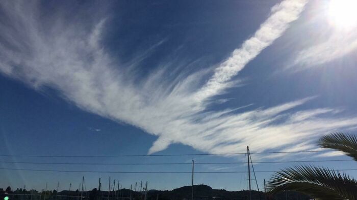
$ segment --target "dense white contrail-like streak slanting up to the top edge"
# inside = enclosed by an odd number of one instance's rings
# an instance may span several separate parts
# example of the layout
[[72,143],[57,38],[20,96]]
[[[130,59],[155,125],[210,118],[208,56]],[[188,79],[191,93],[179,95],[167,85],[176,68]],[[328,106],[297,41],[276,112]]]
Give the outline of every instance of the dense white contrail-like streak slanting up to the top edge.
[[230,86],[229,81],[250,60],[282,36],[289,27],[289,23],[300,16],[305,4],[307,4],[307,0],[287,0],[275,5],[271,9],[268,19],[261,24],[253,37],[246,40],[241,48],[234,50],[232,55],[218,66],[212,78],[202,87],[201,91],[197,92],[197,96],[207,98]]

